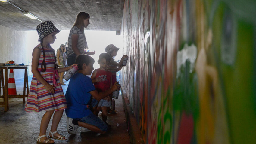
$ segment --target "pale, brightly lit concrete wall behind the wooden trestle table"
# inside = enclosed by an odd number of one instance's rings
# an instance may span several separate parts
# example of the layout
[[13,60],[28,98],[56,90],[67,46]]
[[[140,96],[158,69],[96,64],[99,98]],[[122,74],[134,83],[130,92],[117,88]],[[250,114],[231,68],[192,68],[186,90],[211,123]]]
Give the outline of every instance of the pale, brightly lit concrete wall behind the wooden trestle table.
[[[39,43],[37,40],[36,31],[17,31],[0,25],[0,63],[13,60],[16,64],[31,65],[33,48]],[[28,67],[28,73],[32,74],[31,67]],[[24,70],[14,70],[15,79],[23,77]]]

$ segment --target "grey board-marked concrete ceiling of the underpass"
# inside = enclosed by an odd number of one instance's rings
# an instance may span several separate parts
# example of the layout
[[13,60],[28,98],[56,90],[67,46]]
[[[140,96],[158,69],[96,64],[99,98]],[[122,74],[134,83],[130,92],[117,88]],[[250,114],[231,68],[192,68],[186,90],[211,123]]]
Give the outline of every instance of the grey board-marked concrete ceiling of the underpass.
[[9,0],[0,1],[0,25],[15,30],[36,30],[41,22],[22,14],[30,12],[42,21],[50,20],[60,30],[70,30],[76,15],[90,15],[86,30],[119,31],[124,0]]

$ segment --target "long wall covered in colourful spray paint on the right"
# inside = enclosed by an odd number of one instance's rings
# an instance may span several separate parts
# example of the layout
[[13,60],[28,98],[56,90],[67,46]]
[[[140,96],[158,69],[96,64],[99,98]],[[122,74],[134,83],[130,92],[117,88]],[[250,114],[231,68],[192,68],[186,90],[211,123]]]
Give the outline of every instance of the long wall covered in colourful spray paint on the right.
[[126,0],[122,83],[145,143],[256,143],[256,1]]

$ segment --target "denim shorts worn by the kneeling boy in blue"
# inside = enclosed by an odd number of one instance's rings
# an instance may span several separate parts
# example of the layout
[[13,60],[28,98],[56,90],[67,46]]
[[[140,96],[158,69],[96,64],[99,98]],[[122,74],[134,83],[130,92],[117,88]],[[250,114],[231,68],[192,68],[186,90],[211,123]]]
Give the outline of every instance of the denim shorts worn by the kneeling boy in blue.
[[95,116],[93,113],[83,118],[76,118],[76,120],[90,125],[95,125],[99,129],[101,129],[101,131],[108,131],[108,125],[103,122],[98,116]]

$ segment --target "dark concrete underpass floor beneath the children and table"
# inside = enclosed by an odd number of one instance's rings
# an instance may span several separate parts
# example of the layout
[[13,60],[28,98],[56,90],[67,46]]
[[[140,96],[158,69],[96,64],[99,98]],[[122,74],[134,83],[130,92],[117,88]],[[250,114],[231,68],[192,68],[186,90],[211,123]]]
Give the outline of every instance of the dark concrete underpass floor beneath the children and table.
[[[29,86],[31,82],[29,77]],[[15,80],[18,94],[23,94],[23,79]],[[68,85],[68,82],[66,82]],[[63,85],[64,93],[67,85]],[[1,91],[2,93],[2,91]],[[2,94],[1,94],[2,95]],[[3,98],[1,98],[3,101]],[[107,122],[111,125],[111,129],[105,134],[97,134],[92,131],[80,132],[78,128],[76,135],[70,135],[67,132],[66,114],[64,112],[58,126],[58,132],[67,137],[67,140],[55,140],[60,144],[129,144],[130,137],[128,134],[125,113],[123,110],[122,97],[119,96],[116,101],[117,114],[109,114]],[[0,106],[0,143],[1,144],[35,144],[39,134],[40,122],[44,112],[27,113],[24,111],[25,105],[22,98],[10,98],[9,110],[4,112],[4,107]],[[99,116],[101,118],[101,115]],[[49,123],[46,134],[49,134],[51,121]],[[119,126],[117,126],[119,124]]]

